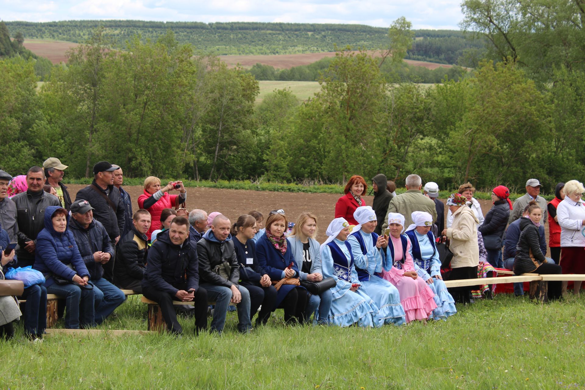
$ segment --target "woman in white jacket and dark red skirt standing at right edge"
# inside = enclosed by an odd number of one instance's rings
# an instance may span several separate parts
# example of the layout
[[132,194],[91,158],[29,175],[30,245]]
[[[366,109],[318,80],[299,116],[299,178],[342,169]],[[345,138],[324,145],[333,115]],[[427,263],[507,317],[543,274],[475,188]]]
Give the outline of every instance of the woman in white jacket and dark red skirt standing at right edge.
[[[581,195],[585,192],[583,183],[570,180],[565,183],[565,199],[556,208],[560,225],[560,267],[563,274],[585,274],[585,236],[581,229],[585,225],[585,202]],[[574,282],[573,294],[579,295],[581,282]],[[567,292],[567,282],[563,282],[563,295]]]

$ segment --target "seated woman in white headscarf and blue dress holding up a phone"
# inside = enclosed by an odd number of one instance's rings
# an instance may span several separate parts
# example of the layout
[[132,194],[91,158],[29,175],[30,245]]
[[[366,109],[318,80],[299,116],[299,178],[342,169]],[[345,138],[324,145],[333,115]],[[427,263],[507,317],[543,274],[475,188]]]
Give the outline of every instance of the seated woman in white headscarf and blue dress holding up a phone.
[[374,314],[380,325],[402,325],[406,318],[400,304],[400,292],[393,284],[378,276],[382,271],[381,252],[386,250],[388,241],[386,237],[374,233],[378,225],[376,212],[370,206],[360,206],[353,212],[353,219],[359,225],[353,228],[347,242],[352,249],[357,278],[361,284],[359,291],[376,304],[378,312]]

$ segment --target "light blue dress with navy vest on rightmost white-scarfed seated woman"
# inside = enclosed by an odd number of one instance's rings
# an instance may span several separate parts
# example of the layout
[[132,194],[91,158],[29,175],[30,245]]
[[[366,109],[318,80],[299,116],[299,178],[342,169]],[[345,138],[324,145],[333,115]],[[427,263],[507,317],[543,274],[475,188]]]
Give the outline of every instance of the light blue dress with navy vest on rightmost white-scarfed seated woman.
[[[410,254],[414,261],[415,270],[419,277],[424,281],[435,275],[441,275],[441,260],[439,252],[435,246],[435,236],[433,233],[419,234],[416,229],[406,232],[411,241]],[[446,319],[457,313],[455,300],[447,291],[445,282],[441,279],[433,278],[429,287],[435,293],[435,303],[437,308],[433,310],[431,319]]]

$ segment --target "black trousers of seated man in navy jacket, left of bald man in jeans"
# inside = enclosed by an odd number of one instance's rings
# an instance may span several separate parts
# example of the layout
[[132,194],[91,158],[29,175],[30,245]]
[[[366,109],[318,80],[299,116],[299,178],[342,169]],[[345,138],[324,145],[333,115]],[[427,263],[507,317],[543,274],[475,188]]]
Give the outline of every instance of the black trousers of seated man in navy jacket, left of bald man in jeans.
[[[185,289],[186,286],[177,287],[178,289]],[[167,329],[171,333],[181,334],[183,328],[177,320],[177,313],[173,307],[173,301],[177,299],[173,294],[159,291],[156,288],[143,288],[143,295],[146,298],[158,303],[160,311],[163,314],[164,322],[167,324]],[[195,334],[207,329],[207,291],[199,287],[195,292]]]

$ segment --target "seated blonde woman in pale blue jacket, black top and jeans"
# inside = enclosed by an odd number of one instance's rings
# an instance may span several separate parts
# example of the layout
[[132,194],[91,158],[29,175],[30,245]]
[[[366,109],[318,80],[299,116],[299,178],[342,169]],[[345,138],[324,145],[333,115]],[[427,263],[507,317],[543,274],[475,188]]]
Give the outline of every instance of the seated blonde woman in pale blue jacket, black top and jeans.
[[[292,258],[301,270],[301,281],[318,282],[323,280],[321,270],[321,250],[319,243],[315,240],[317,236],[317,218],[313,213],[301,213],[297,223],[292,227],[292,233],[288,236],[291,243],[290,251]],[[328,288],[319,295],[309,296],[307,302],[307,318],[315,313],[315,320],[319,325],[327,325],[329,310],[333,293]],[[315,310],[319,308],[318,312]]]

